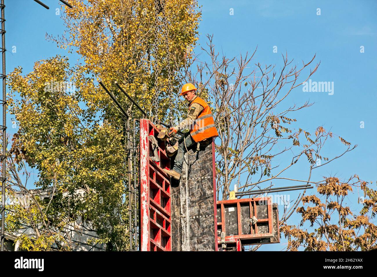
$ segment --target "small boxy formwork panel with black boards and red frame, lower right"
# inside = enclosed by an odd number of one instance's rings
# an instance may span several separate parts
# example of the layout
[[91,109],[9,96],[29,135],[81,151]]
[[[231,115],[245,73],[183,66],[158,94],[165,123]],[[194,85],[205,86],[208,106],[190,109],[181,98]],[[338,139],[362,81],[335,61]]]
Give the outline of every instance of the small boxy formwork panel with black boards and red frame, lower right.
[[[219,245],[221,245],[221,232],[225,233],[225,243],[236,245],[236,251],[241,250],[241,244],[269,243],[267,240],[266,242],[263,240],[267,238],[270,243],[276,243],[276,238],[279,239],[277,206],[274,214],[272,210],[271,197],[218,201],[217,234]],[[254,216],[257,222],[252,224],[250,219]]]

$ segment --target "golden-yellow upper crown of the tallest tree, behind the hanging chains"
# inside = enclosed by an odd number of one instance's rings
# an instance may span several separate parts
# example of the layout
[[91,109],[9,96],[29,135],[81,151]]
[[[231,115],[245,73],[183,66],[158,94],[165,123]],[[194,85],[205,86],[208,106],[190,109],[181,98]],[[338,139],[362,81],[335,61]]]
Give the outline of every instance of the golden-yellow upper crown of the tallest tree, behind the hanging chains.
[[[179,72],[192,56],[198,40],[201,13],[193,0],[89,0],[74,1],[63,16],[67,35],[48,36],[58,46],[76,51],[84,100],[93,109],[107,109],[107,118],[118,112],[107,94],[88,76],[101,80],[112,91],[117,81],[149,116],[166,120],[179,103]],[[121,104],[124,95],[114,92]],[[173,97],[174,96],[174,97]],[[133,106],[128,106],[132,111]]]

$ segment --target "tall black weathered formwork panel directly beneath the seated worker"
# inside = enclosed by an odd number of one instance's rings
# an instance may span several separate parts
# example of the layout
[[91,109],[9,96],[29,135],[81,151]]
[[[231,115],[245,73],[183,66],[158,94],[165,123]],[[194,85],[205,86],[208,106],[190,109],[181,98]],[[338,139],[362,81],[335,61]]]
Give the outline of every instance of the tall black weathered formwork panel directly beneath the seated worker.
[[190,149],[181,180],[172,179],[173,251],[217,251],[213,143]]

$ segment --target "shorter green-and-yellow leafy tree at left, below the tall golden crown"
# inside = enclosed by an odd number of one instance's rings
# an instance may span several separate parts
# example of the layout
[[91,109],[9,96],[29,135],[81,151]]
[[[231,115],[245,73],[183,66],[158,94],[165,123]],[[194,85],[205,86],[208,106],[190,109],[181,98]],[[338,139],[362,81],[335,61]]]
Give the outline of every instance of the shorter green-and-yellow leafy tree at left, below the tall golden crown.
[[[61,242],[59,229],[81,218],[83,222],[90,220],[97,230],[97,243],[107,243],[110,249],[117,243],[119,249],[125,249],[127,202],[123,201],[122,129],[106,122],[101,124],[90,109],[80,107],[82,95],[75,92],[80,87],[72,83],[71,92],[64,86],[70,84],[67,58],[57,56],[39,61],[25,77],[21,73],[17,68],[9,75],[13,92],[9,111],[19,129],[12,138],[8,169],[11,184],[31,196],[33,205],[11,205],[9,210],[17,213],[8,214],[8,228],[17,230],[19,223],[42,225],[41,230],[35,230],[35,243],[49,241],[48,247],[55,243],[58,249],[69,249],[66,242]],[[50,81],[52,76],[54,81]],[[17,92],[21,94],[20,100]],[[25,163],[38,170],[36,187],[52,186],[49,205],[32,196],[19,178],[18,172],[25,170]],[[78,190],[84,193],[77,194]],[[28,247],[40,249],[38,244]]]

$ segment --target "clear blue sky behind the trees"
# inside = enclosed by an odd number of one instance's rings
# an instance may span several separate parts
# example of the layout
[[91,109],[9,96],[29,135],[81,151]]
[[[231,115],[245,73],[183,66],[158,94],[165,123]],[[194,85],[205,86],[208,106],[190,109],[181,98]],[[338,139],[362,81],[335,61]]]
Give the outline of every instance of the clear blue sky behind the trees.
[[[5,2],[7,72],[21,66],[23,72],[28,73],[35,61],[56,54],[68,55],[72,63],[77,60],[77,55],[67,54],[45,40],[46,33],[60,35],[64,31],[63,21],[55,14],[60,2],[44,0],[50,6],[49,10],[32,0]],[[361,179],[375,182],[377,2],[207,0],[199,1],[199,4],[202,5],[202,21],[196,54],[205,46],[208,33],[214,35],[216,48],[228,57],[250,53],[258,47],[254,62],[276,64],[277,69],[282,65],[281,54],[286,51],[288,58],[294,58],[297,65],[302,60],[310,61],[316,54],[314,62],[321,63],[311,80],[334,82],[334,94],[303,92],[297,87],[285,103],[315,102],[314,106],[295,114],[300,127],[314,133],[316,127],[323,125],[358,147],[321,167],[313,174],[313,179],[330,175],[348,178],[359,174]],[[317,15],[318,8],[320,15]],[[233,15],[230,15],[230,9],[233,9]],[[15,53],[12,53],[13,46]],[[277,46],[277,53],[273,52],[274,46]],[[361,46],[364,53],[360,53]],[[360,128],[360,121],[364,122],[364,128]],[[9,116],[7,125],[12,126]],[[11,134],[16,130],[8,128]],[[337,136],[328,145],[323,156],[332,157],[345,150]],[[290,174],[300,177],[301,170],[298,167]],[[291,184],[285,182],[283,185]],[[290,198],[296,195],[293,192]],[[349,196],[348,201],[356,210],[357,192]],[[297,219],[299,217],[293,216],[288,223],[297,224]],[[282,238],[280,245],[266,245],[261,250],[280,250],[285,242]]]

